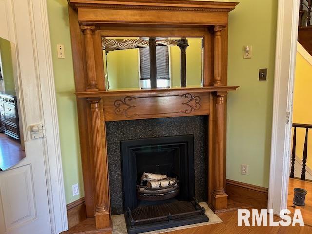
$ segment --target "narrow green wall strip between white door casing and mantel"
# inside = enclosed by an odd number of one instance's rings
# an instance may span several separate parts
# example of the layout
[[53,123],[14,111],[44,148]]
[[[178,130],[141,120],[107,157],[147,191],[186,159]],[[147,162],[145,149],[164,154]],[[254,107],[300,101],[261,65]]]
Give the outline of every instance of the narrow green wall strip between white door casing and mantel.
[[[54,81],[59,118],[59,134],[67,204],[84,196],[72,49],[66,0],[47,0]],[[57,58],[57,44],[64,44],[65,59]],[[79,183],[79,195],[72,185]]]

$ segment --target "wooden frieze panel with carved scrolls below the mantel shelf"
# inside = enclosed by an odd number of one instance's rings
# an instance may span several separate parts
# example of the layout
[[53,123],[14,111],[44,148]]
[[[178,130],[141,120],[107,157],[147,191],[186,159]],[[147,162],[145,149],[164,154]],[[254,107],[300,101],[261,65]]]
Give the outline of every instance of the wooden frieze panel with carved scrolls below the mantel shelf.
[[209,114],[209,93],[104,98],[105,121]]

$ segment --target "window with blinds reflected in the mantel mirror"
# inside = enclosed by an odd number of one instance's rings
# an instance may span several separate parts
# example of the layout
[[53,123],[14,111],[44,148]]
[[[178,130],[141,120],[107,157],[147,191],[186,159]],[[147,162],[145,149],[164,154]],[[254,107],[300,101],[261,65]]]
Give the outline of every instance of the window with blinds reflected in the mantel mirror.
[[[140,38],[149,40],[149,38]],[[168,38],[156,38],[157,88],[170,88],[169,49],[161,44]],[[140,48],[140,84],[142,89],[151,88],[150,48]]]

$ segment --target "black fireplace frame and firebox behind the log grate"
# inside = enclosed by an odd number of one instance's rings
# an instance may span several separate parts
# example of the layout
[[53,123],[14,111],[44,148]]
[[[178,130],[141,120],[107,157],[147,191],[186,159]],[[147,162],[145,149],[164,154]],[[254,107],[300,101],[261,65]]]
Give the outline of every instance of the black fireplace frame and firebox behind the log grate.
[[137,195],[144,172],[177,178],[177,199],[190,201],[194,197],[193,135],[121,141],[121,156],[125,208],[149,204]]

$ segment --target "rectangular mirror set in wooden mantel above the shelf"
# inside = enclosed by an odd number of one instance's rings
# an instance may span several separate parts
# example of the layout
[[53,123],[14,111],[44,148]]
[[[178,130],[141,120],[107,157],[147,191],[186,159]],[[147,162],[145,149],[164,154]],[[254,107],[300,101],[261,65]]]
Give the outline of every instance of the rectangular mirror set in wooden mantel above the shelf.
[[203,38],[103,37],[106,88],[201,86]]

